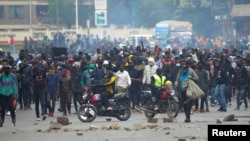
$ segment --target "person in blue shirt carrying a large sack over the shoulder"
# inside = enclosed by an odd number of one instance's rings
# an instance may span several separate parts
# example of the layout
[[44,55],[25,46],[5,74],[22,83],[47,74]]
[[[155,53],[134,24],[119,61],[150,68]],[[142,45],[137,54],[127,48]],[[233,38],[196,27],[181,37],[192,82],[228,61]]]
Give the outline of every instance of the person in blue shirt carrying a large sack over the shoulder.
[[179,72],[177,74],[177,78],[175,81],[175,87],[177,87],[177,89],[182,97],[183,109],[184,109],[185,116],[186,116],[185,122],[189,123],[189,122],[191,122],[190,113],[191,113],[191,108],[193,106],[193,101],[188,100],[187,95],[186,95],[186,91],[187,91],[187,87],[188,87],[188,79],[197,80],[198,76],[192,68],[189,68],[187,66],[186,60],[181,61],[181,66],[182,66],[182,68],[181,68],[181,70],[179,70]]

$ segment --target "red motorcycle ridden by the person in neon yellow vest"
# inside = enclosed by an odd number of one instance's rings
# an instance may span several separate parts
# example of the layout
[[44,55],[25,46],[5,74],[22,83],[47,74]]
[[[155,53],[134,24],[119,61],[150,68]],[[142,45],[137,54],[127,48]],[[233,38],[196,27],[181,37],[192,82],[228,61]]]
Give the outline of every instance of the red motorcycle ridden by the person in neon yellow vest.
[[179,113],[179,100],[174,92],[163,88],[158,100],[158,109],[155,110],[156,98],[152,96],[151,91],[143,91],[142,108],[147,118],[153,118],[156,114],[167,113],[169,118],[176,118]]

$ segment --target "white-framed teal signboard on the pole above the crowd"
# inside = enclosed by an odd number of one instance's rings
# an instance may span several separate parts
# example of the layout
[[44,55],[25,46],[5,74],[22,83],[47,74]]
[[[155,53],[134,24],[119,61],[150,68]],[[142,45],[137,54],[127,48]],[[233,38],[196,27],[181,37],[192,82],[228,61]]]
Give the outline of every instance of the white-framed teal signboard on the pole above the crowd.
[[106,10],[96,10],[95,11],[95,25],[107,25],[107,11]]

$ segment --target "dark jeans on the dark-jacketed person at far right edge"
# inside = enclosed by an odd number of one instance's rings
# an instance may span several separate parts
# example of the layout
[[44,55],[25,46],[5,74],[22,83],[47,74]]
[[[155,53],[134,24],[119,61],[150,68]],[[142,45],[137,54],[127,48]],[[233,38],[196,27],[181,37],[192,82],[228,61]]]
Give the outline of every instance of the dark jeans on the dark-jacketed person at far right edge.
[[240,101],[243,100],[245,104],[245,108],[248,108],[247,98],[245,93],[245,85],[235,86],[235,94],[237,95],[237,109],[240,109]]

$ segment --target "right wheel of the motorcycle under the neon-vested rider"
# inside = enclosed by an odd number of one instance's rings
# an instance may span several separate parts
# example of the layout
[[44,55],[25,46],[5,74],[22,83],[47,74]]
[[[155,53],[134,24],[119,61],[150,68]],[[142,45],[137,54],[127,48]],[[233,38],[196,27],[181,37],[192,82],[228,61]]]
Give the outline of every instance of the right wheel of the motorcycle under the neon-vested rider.
[[167,114],[169,118],[176,118],[179,113],[179,103],[174,100],[168,101]]

